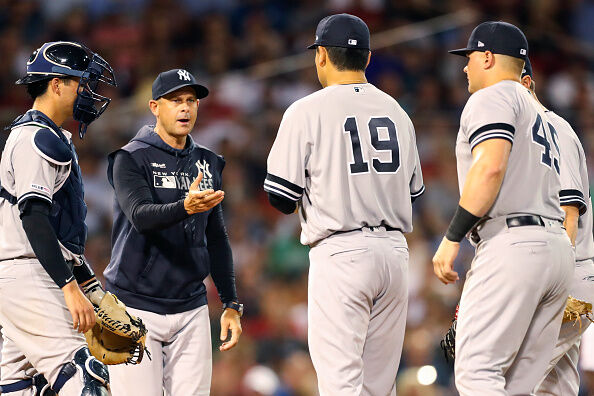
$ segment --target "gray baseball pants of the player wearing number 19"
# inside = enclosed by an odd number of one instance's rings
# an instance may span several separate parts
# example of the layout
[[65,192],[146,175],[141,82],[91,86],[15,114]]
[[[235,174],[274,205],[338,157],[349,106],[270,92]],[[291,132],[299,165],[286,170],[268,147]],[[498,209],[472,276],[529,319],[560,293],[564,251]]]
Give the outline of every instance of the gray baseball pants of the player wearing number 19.
[[408,247],[383,227],[334,234],[309,253],[308,341],[320,396],[396,395]]

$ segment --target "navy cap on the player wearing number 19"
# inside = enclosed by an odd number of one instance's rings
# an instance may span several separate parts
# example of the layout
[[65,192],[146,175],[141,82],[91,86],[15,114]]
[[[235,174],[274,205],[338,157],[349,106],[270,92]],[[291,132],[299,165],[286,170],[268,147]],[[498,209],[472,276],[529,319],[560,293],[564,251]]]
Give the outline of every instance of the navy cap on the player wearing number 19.
[[370,49],[369,41],[369,28],[361,18],[350,14],[334,14],[318,23],[316,40],[307,48],[314,49],[321,45]]

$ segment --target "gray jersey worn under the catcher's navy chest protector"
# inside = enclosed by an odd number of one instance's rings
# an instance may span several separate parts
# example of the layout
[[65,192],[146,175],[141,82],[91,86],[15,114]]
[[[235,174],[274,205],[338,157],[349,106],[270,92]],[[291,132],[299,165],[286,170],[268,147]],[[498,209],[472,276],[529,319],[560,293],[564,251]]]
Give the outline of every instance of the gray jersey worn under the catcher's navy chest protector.
[[[57,163],[45,155],[33,142],[40,128],[47,126],[28,123],[16,127],[10,133],[0,161],[0,185],[20,203],[34,196],[52,202],[52,196],[66,182],[70,174],[70,162]],[[62,130],[70,140],[71,134]],[[14,258],[33,258],[35,253],[27,239],[20,219],[18,205],[0,199],[0,228],[12,232],[0,233],[0,261]],[[60,244],[67,260],[74,255]]]

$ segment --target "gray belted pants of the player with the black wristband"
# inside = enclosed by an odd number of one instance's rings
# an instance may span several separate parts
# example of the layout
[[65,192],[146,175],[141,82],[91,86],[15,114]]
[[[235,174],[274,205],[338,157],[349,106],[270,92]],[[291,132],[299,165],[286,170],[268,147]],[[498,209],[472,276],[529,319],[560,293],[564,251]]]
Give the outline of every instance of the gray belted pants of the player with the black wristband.
[[456,331],[461,396],[531,395],[552,356],[575,256],[561,222],[487,221],[467,274]]

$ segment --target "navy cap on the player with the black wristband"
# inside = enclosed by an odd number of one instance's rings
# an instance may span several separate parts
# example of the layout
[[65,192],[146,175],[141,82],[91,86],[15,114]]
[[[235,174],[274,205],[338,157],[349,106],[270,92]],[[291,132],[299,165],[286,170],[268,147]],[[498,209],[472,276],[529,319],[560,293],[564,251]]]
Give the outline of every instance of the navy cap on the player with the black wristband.
[[472,51],[491,51],[494,54],[528,58],[528,40],[522,31],[507,22],[483,22],[474,28],[466,48],[449,51],[450,54],[466,56]]

